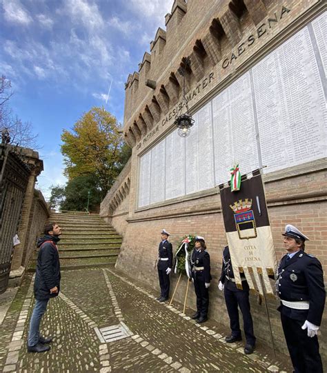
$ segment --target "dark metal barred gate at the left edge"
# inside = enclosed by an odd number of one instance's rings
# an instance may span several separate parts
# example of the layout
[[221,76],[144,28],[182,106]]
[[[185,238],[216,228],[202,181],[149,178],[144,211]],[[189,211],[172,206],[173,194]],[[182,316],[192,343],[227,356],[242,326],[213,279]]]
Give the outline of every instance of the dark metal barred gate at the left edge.
[[0,294],[8,286],[12,239],[18,230],[30,176],[28,165],[10,149],[10,145],[0,144]]

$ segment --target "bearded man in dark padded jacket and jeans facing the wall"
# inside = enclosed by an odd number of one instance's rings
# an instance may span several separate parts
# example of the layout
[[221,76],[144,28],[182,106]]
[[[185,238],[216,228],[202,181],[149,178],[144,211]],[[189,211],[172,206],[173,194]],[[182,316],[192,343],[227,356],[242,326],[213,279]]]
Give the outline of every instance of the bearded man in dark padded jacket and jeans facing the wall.
[[39,333],[40,323],[50,298],[59,294],[60,263],[57,248],[61,228],[57,223],[47,224],[42,239],[37,246],[40,248],[37,256],[37,270],[34,282],[35,305],[30,319],[28,332],[28,352],[45,352],[50,350],[51,338],[44,338]]

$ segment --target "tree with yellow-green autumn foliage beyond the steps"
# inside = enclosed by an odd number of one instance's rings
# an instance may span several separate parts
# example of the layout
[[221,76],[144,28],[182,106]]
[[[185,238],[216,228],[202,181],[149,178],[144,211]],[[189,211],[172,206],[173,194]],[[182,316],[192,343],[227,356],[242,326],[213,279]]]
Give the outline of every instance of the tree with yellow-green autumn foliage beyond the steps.
[[94,175],[103,199],[128,160],[128,145],[119,130],[115,117],[96,107],[83,114],[72,132],[64,130],[61,152],[68,180]]

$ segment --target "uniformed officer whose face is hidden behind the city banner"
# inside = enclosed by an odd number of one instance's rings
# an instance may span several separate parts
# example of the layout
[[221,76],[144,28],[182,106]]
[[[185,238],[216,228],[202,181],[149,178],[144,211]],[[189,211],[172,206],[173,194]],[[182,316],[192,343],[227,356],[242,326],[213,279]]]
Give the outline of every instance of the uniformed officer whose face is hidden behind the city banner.
[[232,334],[226,336],[226,342],[233,343],[242,340],[241,329],[239,328],[239,310],[237,308],[239,306],[243,315],[243,327],[246,335],[244,352],[252,354],[255,349],[256,338],[253,333],[253,321],[250,312],[250,288],[244,274],[240,275],[243,289],[238,289],[236,286],[232,263],[230,261],[230,252],[228,246],[226,246],[223,252],[223,266],[218,285],[219,290],[224,290],[226,308],[230,319],[230,329],[232,330]]

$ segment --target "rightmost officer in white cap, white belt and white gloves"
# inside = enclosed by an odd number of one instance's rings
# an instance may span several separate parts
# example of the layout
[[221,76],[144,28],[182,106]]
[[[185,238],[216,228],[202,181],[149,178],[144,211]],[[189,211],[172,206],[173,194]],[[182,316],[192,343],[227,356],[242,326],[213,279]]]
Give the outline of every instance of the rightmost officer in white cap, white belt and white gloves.
[[287,254],[277,268],[276,289],[281,305],[281,325],[295,373],[323,372],[317,332],[326,299],[321,263],[304,252],[308,237],[286,225]]

